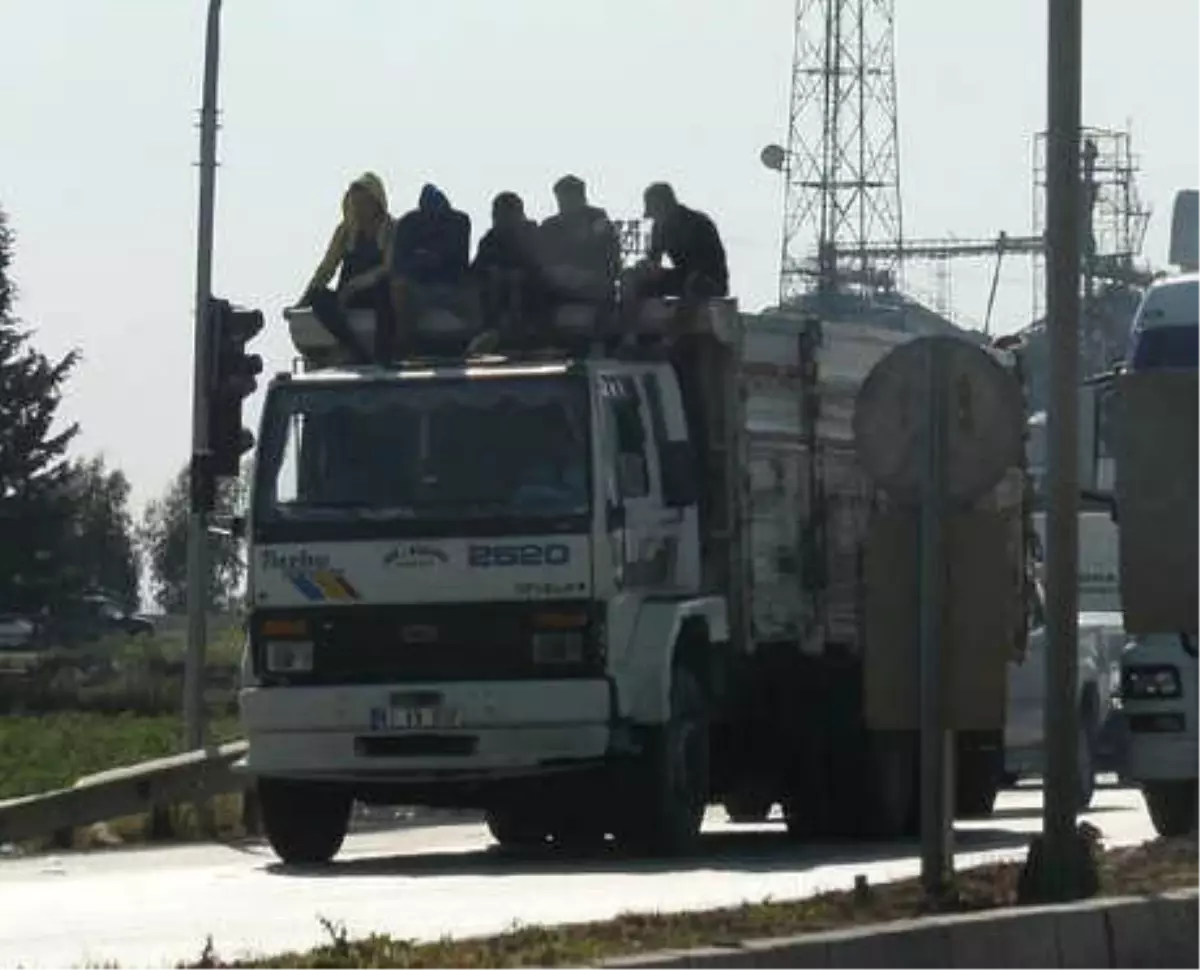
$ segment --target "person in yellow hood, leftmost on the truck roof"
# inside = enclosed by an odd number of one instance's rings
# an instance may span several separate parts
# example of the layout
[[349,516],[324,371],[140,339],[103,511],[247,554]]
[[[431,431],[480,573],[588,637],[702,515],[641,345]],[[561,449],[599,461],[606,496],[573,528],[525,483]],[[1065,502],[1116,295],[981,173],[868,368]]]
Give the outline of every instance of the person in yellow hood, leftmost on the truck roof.
[[[359,175],[342,197],[342,221],[300,300],[312,307],[337,342],[361,364],[370,363],[372,357],[386,361],[395,343],[395,312],[388,283],[394,228],[383,181],[373,172]],[[337,286],[331,291],[329,283],[335,273]],[[374,310],[373,355],[350,330],[348,310]]]

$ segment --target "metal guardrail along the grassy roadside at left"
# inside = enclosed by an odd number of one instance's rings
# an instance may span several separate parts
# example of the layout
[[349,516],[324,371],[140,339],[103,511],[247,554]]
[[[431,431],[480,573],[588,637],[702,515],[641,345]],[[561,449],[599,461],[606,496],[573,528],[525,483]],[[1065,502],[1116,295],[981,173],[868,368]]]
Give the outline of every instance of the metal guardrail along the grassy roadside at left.
[[68,789],[0,802],[0,844],[242,791],[251,779],[232,768],[246,749],[245,741],[232,741],[88,776]]

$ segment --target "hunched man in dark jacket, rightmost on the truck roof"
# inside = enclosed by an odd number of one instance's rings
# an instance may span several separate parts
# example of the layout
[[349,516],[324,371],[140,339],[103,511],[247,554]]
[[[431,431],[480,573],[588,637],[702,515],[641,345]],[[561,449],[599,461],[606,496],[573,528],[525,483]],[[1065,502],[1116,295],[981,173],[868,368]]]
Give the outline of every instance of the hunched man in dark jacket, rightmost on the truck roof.
[[[649,251],[632,274],[635,295],[710,299],[727,297],[730,270],[716,224],[689,209],[667,182],[654,182],[644,193],[646,217],[654,221]],[[671,257],[671,269],[662,257]]]

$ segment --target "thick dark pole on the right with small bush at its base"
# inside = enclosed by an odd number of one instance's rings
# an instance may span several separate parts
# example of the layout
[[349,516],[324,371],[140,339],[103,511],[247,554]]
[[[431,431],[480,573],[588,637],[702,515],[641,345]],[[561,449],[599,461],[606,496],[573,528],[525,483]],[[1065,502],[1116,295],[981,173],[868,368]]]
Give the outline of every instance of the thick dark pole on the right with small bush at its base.
[[1049,0],[1046,132],[1046,331],[1050,342],[1046,475],[1046,777],[1043,834],[1030,850],[1022,894],[1064,902],[1096,892],[1094,862],[1078,831],[1079,758],[1079,330],[1084,215],[1080,178],[1082,0]]

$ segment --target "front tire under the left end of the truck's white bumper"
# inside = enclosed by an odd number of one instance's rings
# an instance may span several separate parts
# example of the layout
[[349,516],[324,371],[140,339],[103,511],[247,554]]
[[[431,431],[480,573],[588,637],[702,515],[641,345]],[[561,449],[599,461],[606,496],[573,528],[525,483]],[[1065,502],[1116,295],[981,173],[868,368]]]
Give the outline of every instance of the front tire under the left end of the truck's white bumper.
[[346,842],[349,792],[331,785],[260,778],[256,785],[263,830],[288,866],[324,866]]

